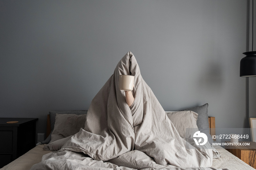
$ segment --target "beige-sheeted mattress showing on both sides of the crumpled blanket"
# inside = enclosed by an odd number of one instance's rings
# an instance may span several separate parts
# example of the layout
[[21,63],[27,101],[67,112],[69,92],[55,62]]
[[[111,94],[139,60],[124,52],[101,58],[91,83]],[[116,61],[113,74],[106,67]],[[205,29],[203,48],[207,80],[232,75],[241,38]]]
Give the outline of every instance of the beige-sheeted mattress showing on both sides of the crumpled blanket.
[[[26,154],[22,155],[18,159],[4,166],[1,170],[29,170],[31,166],[41,161],[44,154],[48,154],[50,151],[43,150],[44,144],[38,145],[31,149]],[[255,170],[239,158],[231,154],[220,146],[215,147],[221,154],[221,158],[213,159],[212,167],[216,169],[230,169],[230,170]]]

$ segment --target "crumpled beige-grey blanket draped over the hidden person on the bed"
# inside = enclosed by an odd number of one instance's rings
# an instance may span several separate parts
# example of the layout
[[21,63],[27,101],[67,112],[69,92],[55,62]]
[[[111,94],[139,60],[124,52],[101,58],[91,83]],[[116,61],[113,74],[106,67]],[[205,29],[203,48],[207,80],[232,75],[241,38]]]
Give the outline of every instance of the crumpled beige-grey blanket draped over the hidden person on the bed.
[[[135,76],[131,107],[118,88],[120,74]],[[86,119],[84,129],[64,139],[59,151],[45,155],[32,169],[201,169],[196,167],[210,167],[216,155],[209,146],[186,147],[190,144],[166,116],[131,52],[93,98]]]

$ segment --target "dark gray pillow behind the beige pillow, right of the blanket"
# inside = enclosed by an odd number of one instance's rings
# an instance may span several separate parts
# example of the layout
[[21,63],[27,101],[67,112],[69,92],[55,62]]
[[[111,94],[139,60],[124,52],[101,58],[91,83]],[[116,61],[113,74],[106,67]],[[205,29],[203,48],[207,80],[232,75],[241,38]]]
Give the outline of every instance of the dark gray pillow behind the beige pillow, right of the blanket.
[[214,143],[210,135],[209,121],[208,121],[208,103],[202,106],[185,109],[185,111],[193,111],[198,114],[196,125],[199,131],[207,135],[208,141],[210,144]]

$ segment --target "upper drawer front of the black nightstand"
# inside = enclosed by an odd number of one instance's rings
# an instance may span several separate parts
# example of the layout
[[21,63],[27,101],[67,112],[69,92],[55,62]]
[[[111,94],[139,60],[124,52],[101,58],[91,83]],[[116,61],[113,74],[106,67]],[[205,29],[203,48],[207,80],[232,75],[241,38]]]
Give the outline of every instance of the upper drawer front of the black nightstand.
[[12,131],[0,131],[0,136],[4,136],[4,139],[0,140],[0,154],[12,152]]

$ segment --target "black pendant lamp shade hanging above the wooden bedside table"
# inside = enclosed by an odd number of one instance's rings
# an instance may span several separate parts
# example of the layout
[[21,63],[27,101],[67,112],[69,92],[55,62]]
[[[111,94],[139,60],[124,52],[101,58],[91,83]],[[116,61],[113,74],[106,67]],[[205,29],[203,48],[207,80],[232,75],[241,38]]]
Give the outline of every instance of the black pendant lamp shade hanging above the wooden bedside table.
[[240,77],[256,77],[256,51],[243,53],[240,61]]

